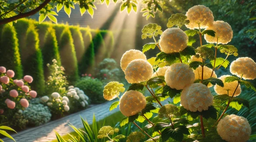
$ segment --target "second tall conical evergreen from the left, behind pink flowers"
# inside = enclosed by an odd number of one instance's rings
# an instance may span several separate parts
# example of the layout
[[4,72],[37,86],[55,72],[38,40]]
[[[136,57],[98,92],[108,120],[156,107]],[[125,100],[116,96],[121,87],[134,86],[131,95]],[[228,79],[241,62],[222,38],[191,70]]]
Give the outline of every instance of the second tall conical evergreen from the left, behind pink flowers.
[[33,77],[31,83],[32,90],[36,90],[39,95],[44,94],[44,72],[43,72],[43,60],[42,52],[39,48],[39,35],[35,29],[34,24],[31,24],[26,32],[26,50],[23,51],[23,67],[24,74]]

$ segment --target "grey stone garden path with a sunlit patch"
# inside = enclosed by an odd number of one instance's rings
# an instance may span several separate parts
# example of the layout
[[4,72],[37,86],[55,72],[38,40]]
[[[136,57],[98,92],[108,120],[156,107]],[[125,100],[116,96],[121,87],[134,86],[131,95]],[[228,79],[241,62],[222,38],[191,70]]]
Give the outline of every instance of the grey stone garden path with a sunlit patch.
[[[88,123],[92,123],[93,114],[98,120],[101,120],[110,114],[113,114],[119,109],[114,109],[113,111],[109,111],[109,106],[113,103],[113,101],[108,101],[104,104],[94,105],[84,111],[77,112],[75,114],[71,114],[67,117],[50,121],[44,125],[30,128],[28,130],[18,132],[18,134],[12,135],[12,137],[16,140],[16,142],[50,142],[56,139],[55,132],[58,132],[60,135],[65,135],[67,133],[73,132],[74,130],[70,128],[69,123],[74,125],[77,128],[82,128],[83,124],[81,122],[80,116],[82,118],[86,118]],[[13,142],[11,139],[3,139],[4,142]]]

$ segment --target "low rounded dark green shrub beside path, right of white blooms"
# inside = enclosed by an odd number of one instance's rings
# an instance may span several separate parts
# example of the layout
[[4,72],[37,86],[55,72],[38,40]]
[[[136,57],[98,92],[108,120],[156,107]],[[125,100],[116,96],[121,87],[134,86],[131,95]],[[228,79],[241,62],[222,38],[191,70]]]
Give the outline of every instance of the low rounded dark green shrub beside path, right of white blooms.
[[80,80],[77,80],[75,86],[84,91],[91,99],[91,103],[98,104],[105,101],[103,98],[103,84],[100,80],[82,77]]

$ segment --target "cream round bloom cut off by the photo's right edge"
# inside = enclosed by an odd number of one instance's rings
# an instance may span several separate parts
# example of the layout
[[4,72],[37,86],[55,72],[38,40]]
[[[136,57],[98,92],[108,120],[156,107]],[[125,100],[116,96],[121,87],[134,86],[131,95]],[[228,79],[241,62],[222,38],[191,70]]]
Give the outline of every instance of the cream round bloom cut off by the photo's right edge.
[[256,78],[256,63],[248,57],[238,58],[230,64],[230,73],[245,80],[254,80]]

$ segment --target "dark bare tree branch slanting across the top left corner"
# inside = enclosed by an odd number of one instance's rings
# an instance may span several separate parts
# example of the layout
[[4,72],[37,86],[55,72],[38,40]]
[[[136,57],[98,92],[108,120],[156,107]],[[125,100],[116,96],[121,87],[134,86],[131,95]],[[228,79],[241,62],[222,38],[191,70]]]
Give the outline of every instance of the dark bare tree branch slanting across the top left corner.
[[9,17],[9,18],[6,18],[6,19],[2,19],[2,20],[0,20],[0,25],[1,24],[7,24],[9,22],[12,22],[12,21],[15,21],[15,20],[18,20],[18,19],[21,19],[21,18],[25,18],[25,17],[31,16],[31,15],[34,15],[37,12],[39,12],[39,10],[44,8],[50,1],[51,0],[45,0],[41,5],[39,5],[39,7],[36,7],[34,10],[31,10],[29,12],[18,14],[18,15],[15,15],[13,17]]

